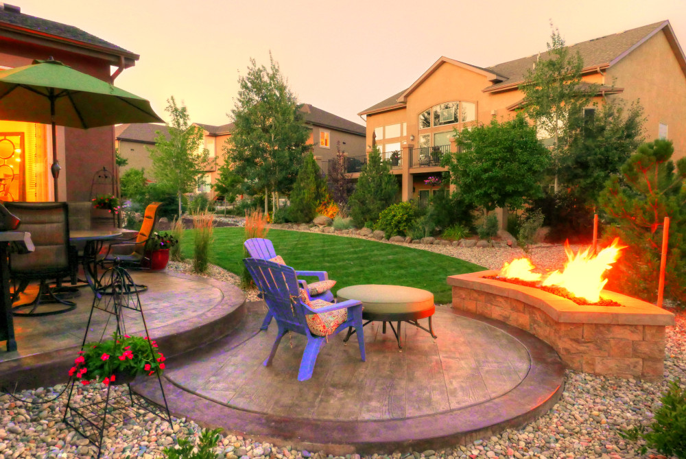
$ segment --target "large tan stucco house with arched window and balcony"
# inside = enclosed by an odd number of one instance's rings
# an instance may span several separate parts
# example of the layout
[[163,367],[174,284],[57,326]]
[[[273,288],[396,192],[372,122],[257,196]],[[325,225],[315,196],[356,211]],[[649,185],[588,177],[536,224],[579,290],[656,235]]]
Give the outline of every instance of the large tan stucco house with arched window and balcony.
[[[584,61],[582,82],[600,84],[598,102],[640,99],[646,137],[666,137],[674,142],[674,158],[686,156],[686,59],[669,21],[571,45],[570,51]],[[434,191],[424,180],[445,170],[440,158],[455,148],[454,128],[514,117],[523,99],[519,84],[547,57],[492,67],[441,57],[412,86],[360,112],[366,115],[366,146],[376,145],[401,177],[403,200]]]

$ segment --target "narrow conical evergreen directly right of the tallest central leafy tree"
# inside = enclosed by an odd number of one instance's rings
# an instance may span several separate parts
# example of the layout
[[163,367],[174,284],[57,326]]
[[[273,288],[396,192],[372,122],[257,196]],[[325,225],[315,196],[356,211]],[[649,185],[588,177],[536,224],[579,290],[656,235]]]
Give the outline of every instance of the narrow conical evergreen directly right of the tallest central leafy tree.
[[288,216],[292,222],[311,222],[316,216],[319,202],[325,197],[326,183],[321,176],[314,155],[309,153],[305,156],[303,167],[300,167],[298,178],[293,185],[290,196]]

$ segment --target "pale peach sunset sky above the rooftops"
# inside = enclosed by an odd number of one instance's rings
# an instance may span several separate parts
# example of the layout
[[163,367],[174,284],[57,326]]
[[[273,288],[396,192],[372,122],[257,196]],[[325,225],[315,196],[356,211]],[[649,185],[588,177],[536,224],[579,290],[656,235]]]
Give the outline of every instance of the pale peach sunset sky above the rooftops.
[[410,86],[440,56],[488,67],[670,20],[686,46],[686,1],[9,0],[141,58],[115,84],[167,119],[174,95],[198,123],[230,122],[239,73],[269,52],[305,102],[351,121]]

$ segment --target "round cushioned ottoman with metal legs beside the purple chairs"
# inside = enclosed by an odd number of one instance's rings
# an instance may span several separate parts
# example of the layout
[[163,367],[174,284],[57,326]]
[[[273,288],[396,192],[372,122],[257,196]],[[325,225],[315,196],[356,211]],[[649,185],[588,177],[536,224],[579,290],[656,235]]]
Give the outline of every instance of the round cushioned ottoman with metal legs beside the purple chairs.
[[[375,320],[383,322],[383,333],[386,333],[386,322],[390,327],[398,342],[398,347],[403,349],[401,344],[401,322],[414,325],[436,338],[434,329],[431,326],[431,316],[434,315],[434,294],[414,287],[404,287],[402,285],[351,285],[338,290],[338,301],[358,300],[362,301],[362,318],[367,320],[364,325]],[[419,319],[429,318],[429,328],[422,327],[417,322]],[[397,330],[392,322],[397,322]],[[348,330],[348,336],[354,333],[353,329]]]

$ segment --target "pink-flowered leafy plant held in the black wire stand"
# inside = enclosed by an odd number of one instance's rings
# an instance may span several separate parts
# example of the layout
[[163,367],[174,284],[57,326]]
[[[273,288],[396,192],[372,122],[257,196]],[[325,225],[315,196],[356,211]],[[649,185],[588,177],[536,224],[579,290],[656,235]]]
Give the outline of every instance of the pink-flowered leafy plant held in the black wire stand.
[[165,369],[165,356],[157,350],[154,340],[142,336],[117,336],[111,340],[84,345],[69,376],[80,379],[81,384],[102,382],[125,384],[138,375],[154,375]]

